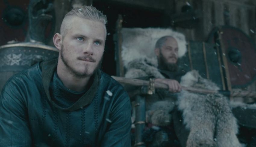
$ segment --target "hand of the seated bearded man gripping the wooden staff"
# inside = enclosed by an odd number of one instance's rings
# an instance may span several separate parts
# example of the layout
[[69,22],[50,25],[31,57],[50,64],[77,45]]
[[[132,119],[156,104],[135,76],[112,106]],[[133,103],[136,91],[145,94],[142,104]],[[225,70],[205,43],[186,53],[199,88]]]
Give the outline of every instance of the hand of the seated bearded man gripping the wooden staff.
[[168,85],[169,91],[172,93],[177,93],[181,90],[180,83],[176,80],[156,78],[155,82],[160,82]]

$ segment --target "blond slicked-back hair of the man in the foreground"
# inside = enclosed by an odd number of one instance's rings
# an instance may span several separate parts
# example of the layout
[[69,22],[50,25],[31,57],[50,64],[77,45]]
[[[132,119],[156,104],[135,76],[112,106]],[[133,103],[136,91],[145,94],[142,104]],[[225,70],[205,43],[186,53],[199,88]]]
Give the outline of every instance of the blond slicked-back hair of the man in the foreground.
[[75,7],[65,15],[61,23],[60,33],[63,36],[65,36],[66,30],[67,30],[67,25],[65,24],[66,20],[70,16],[77,16],[83,19],[98,21],[103,23],[104,25],[106,25],[106,23],[108,22],[106,15],[102,14],[99,10],[97,10],[93,6]]

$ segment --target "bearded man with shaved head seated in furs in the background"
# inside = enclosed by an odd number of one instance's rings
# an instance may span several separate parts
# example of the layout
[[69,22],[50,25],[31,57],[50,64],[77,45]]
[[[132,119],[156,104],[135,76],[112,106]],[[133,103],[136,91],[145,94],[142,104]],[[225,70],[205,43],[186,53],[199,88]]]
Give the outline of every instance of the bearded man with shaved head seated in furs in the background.
[[[182,147],[241,146],[238,127],[227,98],[220,94],[194,94],[182,86],[218,90],[216,84],[202,78],[197,71],[178,69],[178,43],[172,36],[161,37],[155,45],[158,67],[151,59],[136,59],[128,64],[126,77],[149,79],[168,85],[146,97],[146,121],[175,130]],[[171,132],[173,133],[173,132]],[[170,137],[170,135],[169,135]],[[175,140],[175,136],[171,138]],[[217,140],[217,141],[216,141]]]

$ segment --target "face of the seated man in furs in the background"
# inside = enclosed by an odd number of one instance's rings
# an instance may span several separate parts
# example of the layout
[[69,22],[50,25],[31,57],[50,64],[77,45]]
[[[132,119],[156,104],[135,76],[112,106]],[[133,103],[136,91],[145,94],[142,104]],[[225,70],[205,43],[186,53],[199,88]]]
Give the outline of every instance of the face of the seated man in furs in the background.
[[178,43],[174,38],[168,37],[160,49],[160,55],[165,63],[176,63],[178,59]]

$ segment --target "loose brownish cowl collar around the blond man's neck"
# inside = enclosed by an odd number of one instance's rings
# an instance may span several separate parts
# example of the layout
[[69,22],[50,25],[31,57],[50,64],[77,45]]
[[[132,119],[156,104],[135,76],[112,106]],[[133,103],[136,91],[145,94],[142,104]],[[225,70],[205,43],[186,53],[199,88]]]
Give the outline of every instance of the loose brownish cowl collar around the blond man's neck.
[[41,68],[42,68],[42,82],[43,82],[43,87],[46,93],[46,96],[48,98],[48,100],[57,108],[61,109],[61,110],[67,110],[67,111],[74,111],[74,110],[78,110],[81,109],[82,107],[90,104],[93,100],[93,98],[95,97],[95,94],[97,92],[98,89],[98,85],[99,85],[99,81],[100,81],[100,77],[101,77],[101,71],[100,69],[98,69],[95,74],[92,76],[94,77],[93,82],[91,87],[89,87],[89,89],[86,91],[86,93],[79,98],[73,105],[71,105],[68,108],[62,108],[60,106],[58,106],[51,98],[50,96],[50,83],[51,80],[53,78],[54,75],[54,71],[57,68],[57,64],[58,64],[58,58],[56,59],[52,59],[52,60],[48,60],[48,61],[44,61],[40,64]]

